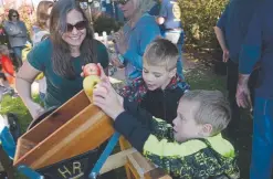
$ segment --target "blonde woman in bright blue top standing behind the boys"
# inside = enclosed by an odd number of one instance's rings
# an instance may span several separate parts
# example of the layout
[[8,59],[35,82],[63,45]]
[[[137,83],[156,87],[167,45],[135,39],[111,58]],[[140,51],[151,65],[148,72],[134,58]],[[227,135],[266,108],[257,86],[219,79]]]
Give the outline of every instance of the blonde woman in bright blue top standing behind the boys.
[[118,7],[128,22],[117,32],[116,51],[118,57],[113,63],[125,66],[127,82],[141,76],[143,54],[146,46],[160,36],[160,30],[155,18],[148,14],[154,0],[118,0]]

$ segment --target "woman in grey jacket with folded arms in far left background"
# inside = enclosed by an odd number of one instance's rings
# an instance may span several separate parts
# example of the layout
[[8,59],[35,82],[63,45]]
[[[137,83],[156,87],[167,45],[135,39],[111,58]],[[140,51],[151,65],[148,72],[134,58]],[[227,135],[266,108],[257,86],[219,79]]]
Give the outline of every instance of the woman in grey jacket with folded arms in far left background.
[[15,56],[19,60],[19,66],[22,64],[22,50],[27,43],[27,27],[20,21],[20,15],[17,10],[9,10],[9,21],[4,22],[4,31],[9,36],[9,43]]

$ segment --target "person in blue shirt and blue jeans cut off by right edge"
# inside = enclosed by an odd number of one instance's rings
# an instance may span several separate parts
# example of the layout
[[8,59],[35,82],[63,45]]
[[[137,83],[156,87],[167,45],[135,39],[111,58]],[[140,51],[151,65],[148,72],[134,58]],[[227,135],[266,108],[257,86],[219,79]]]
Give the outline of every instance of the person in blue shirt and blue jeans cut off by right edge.
[[270,179],[273,157],[273,1],[262,0],[249,24],[239,57],[237,102],[251,107],[248,82],[256,63],[260,75],[255,90],[250,179]]

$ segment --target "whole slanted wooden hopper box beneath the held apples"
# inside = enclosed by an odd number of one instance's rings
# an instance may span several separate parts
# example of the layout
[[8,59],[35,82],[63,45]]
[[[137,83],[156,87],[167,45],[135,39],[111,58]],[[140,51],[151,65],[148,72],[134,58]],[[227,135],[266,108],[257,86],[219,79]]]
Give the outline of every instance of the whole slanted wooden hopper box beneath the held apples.
[[95,149],[112,123],[82,91],[19,138],[13,165],[40,169]]

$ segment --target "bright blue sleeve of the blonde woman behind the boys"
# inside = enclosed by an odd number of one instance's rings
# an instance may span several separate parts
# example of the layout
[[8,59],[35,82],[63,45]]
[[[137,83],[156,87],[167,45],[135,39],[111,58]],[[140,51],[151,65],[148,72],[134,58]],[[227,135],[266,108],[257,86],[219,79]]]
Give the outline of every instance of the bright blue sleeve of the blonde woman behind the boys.
[[143,55],[146,50],[146,46],[154,41],[157,36],[160,36],[160,30],[158,25],[145,24],[139,27],[138,33],[138,51],[128,49],[127,52],[123,55],[125,61],[128,61],[137,70],[143,70]]

